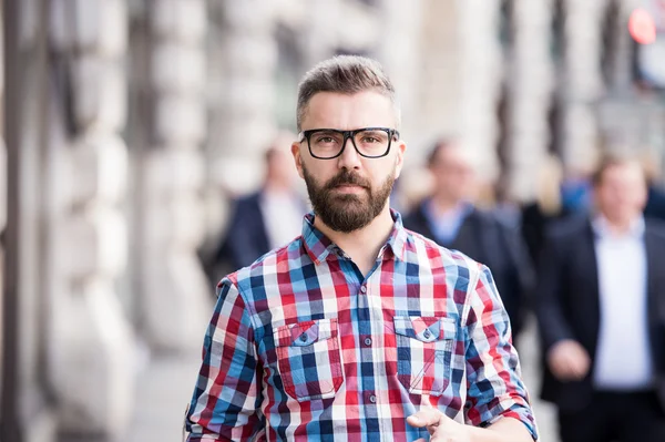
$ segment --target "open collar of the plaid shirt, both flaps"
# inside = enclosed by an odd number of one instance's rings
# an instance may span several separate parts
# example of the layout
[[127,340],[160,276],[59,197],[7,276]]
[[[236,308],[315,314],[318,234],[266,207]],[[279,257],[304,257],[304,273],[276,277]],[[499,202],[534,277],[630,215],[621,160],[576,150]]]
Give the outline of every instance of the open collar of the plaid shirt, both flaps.
[[[381,248],[381,256],[387,249],[392,251],[392,256],[397,259],[406,260],[406,248],[407,248],[407,238],[408,234],[402,225],[401,215],[393,209],[390,209],[390,215],[395,220],[395,225],[392,227],[392,233],[388,238],[386,245]],[[307,255],[314,260],[316,264],[320,264],[325,261],[328,256],[340,255],[344,251],[332,243],[321,230],[314,226],[314,212],[305,215],[303,220],[303,243],[305,246],[305,250]]]

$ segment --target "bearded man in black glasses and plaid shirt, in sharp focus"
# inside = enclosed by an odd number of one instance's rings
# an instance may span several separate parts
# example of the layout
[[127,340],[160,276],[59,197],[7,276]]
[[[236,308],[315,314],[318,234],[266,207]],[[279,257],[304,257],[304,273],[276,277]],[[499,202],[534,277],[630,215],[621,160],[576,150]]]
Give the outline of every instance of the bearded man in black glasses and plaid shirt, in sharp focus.
[[318,64],[297,125],[314,213],[218,285],[190,441],[535,439],[490,271],[388,206],[406,145],[380,65]]

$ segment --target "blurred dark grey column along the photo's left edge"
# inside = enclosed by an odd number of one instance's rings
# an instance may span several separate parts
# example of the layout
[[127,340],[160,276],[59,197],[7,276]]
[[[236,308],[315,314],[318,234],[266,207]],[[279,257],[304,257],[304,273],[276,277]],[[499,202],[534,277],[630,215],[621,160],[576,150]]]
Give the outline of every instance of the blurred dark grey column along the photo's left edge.
[[[48,12],[35,0],[2,6],[2,353],[0,439],[51,441],[55,414],[44,388],[44,340],[51,294],[44,273],[44,83]],[[6,52],[4,52],[6,51]],[[7,74],[7,76],[4,76]],[[7,86],[4,86],[4,81]],[[7,199],[4,199],[7,198]],[[6,207],[7,204],[7,207]],[[6,212],[7,209],[7,212]]]

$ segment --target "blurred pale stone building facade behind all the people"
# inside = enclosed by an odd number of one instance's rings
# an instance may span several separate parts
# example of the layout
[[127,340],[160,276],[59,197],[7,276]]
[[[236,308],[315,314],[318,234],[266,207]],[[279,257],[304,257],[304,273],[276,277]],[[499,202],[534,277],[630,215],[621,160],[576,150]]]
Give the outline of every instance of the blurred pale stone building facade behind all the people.
[[407,166],[451,134],[518,201],[549,152],[590,167],[601,134],[662,154],[662,96],[633,81],[640,3],[4,2],[2,441],[121,440],[142,349],[198,348],[198,254],[295,129],[297,81],[320,60],[383,63]]

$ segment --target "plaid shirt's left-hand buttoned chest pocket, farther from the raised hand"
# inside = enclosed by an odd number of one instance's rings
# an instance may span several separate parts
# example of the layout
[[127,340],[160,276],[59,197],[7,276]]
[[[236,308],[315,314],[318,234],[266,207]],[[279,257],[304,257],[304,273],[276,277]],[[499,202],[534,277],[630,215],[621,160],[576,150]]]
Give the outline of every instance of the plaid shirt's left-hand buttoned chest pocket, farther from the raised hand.
[[300,402],[335,397],[344,381],[336,318],[277,327],[274,338],[288,395]]

